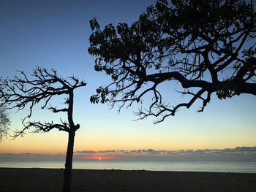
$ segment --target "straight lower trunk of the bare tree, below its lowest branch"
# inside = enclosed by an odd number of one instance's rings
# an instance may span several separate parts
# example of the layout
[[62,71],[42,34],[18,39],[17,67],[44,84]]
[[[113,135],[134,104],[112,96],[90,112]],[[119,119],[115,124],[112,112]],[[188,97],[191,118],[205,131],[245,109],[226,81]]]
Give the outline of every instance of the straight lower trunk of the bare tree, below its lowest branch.
[[63,192],[71,191],[72,159],[73,159],[73,150],[74,150],[74,140],[75,140],[75,131],[70,129],[69,130],[69,141],[67,144],[65,170],[64,170],[64,183],[63,183],[63,188],[62,188]]

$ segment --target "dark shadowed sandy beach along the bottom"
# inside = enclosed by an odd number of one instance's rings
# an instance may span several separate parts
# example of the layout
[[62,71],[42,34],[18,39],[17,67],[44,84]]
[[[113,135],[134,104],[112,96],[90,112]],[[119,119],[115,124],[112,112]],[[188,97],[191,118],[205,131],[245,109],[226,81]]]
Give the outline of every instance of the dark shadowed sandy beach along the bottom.
[[[64,169],[0,168],[0,192],[61,191]],[[256,191],[256,174],[73,169],[72,191]]]

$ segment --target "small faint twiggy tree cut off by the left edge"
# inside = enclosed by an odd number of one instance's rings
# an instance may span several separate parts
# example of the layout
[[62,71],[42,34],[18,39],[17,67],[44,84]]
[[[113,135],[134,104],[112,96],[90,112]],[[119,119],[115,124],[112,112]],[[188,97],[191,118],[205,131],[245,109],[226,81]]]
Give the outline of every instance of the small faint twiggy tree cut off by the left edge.
[[7,137],[7,132],[10,128],[10,119],[6,110],[5,106],[0,106],[0,141],[3,137]]

